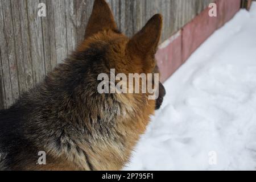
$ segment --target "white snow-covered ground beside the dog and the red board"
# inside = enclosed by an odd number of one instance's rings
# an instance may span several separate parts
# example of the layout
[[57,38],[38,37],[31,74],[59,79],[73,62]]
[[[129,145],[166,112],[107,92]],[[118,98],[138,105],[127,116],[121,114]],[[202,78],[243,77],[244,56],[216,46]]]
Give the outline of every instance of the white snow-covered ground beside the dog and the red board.
[[256,3],[164,85],[162,109],[126,170],[256,169]]

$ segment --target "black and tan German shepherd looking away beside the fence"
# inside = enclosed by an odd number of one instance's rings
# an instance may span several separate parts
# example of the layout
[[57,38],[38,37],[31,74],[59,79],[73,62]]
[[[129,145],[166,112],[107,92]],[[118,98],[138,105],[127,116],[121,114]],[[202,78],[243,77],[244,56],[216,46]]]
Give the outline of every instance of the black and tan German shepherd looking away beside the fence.
[[[157,100],[148,93],[100,94],[100,73],[154,73],[162,16],[133,38],[117,30],[104,0],[95,0],[84,42],[43,82],[0,111],[1,170],[120,170],[146,130]],[[39,151],[46,164],[39,164]]]

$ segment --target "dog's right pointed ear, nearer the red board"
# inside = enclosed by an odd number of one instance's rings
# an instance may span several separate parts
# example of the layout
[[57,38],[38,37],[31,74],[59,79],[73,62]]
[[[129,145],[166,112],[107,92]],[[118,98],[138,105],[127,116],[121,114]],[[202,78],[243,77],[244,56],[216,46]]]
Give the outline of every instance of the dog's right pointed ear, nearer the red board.
[[154,55],[162,31],[162,15],[156,14],[131,38],[128,49],[137,55]]

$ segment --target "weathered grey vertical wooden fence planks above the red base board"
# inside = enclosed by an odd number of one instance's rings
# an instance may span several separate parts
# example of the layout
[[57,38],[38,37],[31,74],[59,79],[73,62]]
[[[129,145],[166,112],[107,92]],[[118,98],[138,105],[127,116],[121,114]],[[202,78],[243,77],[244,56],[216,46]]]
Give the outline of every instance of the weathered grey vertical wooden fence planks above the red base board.
[[[156,13],[162,41],[213,0],[109,0],[118,27],[131,36]],[[46,17],[38,5],[46,5]],[[82,41],[93,0],[0,0],[0,109],[44,78]]]

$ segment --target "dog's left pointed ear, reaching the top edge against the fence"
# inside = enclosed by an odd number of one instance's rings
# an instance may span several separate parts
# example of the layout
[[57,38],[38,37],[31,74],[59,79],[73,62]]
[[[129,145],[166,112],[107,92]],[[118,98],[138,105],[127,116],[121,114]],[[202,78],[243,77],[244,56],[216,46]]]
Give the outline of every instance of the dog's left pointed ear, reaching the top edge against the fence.
[[114,16],[108,3],[105,0],[95,0],[85,31],[85,38],[103,30],[117,30]]

